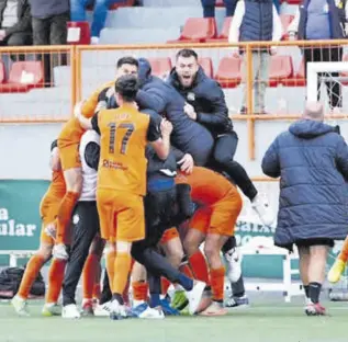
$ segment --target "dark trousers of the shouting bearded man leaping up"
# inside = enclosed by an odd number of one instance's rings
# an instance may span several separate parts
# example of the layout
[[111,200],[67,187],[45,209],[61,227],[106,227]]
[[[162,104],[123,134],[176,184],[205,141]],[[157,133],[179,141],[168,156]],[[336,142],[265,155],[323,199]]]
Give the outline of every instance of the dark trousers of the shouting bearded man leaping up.
[[240,187],[243,193],[250,200],[257,195],[257,189],[252,184],[246,170],[234,160],[238,145],[238,136],[235,132],[220,136],[215,140],[213,152],[213,169],[226,172],[232,181]]

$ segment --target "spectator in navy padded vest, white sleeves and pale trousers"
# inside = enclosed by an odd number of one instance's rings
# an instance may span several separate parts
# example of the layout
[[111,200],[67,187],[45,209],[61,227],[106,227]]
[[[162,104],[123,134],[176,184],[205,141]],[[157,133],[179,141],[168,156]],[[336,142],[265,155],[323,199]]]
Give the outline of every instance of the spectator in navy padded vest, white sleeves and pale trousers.
[[[282,35],[282,24],[272,0],[240,0],[237,3],[234,19],[231,23],[228,42],[279,42]],[[238,47],[234,47],[236,52]],[[239,52],[244,55],[244,52]],[[257,48],[252,50],[252,80],[255,114],[266,114],[265,95],[268,82],[269,57],[276,54],[276,47]],[[236,57],[239,57],[235,54]],[[242,77],[247,76],[247,61],[244,58]],[[247,88],[245,87],[240,114],[247,113]]]

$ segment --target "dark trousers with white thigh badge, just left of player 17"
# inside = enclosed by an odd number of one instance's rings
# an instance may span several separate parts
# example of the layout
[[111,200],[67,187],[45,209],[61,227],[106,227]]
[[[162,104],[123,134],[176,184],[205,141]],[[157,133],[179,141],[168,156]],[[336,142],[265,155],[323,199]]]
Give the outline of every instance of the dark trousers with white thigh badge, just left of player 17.
[[72,244],[63,285],[63,305],[75,304],[76,288],[81,277],[89,248],[99,232],[96,202],[78,202],[72,214]]

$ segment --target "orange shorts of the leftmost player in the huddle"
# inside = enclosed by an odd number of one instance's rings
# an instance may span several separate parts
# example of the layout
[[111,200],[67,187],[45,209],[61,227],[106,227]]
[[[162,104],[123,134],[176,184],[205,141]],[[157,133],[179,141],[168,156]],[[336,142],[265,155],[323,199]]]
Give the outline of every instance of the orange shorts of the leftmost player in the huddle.
[[46,235],[45,227],[56,219],[60,202],[60,197],[49,196],[49,194],[46,194],[40,204],[40,216],[42,219],[40,241],[43,243],[55,243],[54,239]]

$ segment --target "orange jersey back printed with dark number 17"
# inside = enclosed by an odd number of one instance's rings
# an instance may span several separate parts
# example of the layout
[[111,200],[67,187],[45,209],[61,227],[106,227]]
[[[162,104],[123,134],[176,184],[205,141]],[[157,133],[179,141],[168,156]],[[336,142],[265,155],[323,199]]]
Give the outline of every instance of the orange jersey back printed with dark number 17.
[[132,105],[98,113],[101,151],[99,189],[113,189],[145,195],[145,148],[149,116]]

